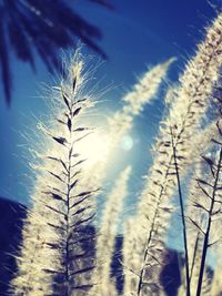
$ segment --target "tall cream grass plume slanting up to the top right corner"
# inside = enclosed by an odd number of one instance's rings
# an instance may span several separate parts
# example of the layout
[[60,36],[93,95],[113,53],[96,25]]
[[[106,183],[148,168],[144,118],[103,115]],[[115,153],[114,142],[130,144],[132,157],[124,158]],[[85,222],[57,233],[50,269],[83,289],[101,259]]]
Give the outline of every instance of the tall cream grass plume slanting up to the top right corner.
[[[167,231],[173,211],[170,197],[176,187],[178,175],[173,146],[176,149],[178,173],[183,175],[188,164],[193,162],[194,146],[191,139],[200,130],[201,120],[210,105],[209,96],[213,92],[214,82],[219,79],[222,58],[221,19],[222,16],[219,16],[208,29],[206,38],[199,45],[196,55],[189,61],[180,79],[180,86],[175,91],[175,98],[169,108],[169,114],[160,124],[160,135],[153,147],[153,165],[149,169],[148,183],[141,194],[135,216],[135,223],[140,227],[138,239],[141,242],[138,249],[140,259],[134,269],[139,276],[133,275],[137,283],[135,295],[137,293],[145,295],[149,293],[147,292],[149,286],[161,289],[157,274],[163,264],[161,254],[164,252]],[[190,282],[189,275],[186,278]],[[188,287],[188,295],[190,295],[189,289]]]

